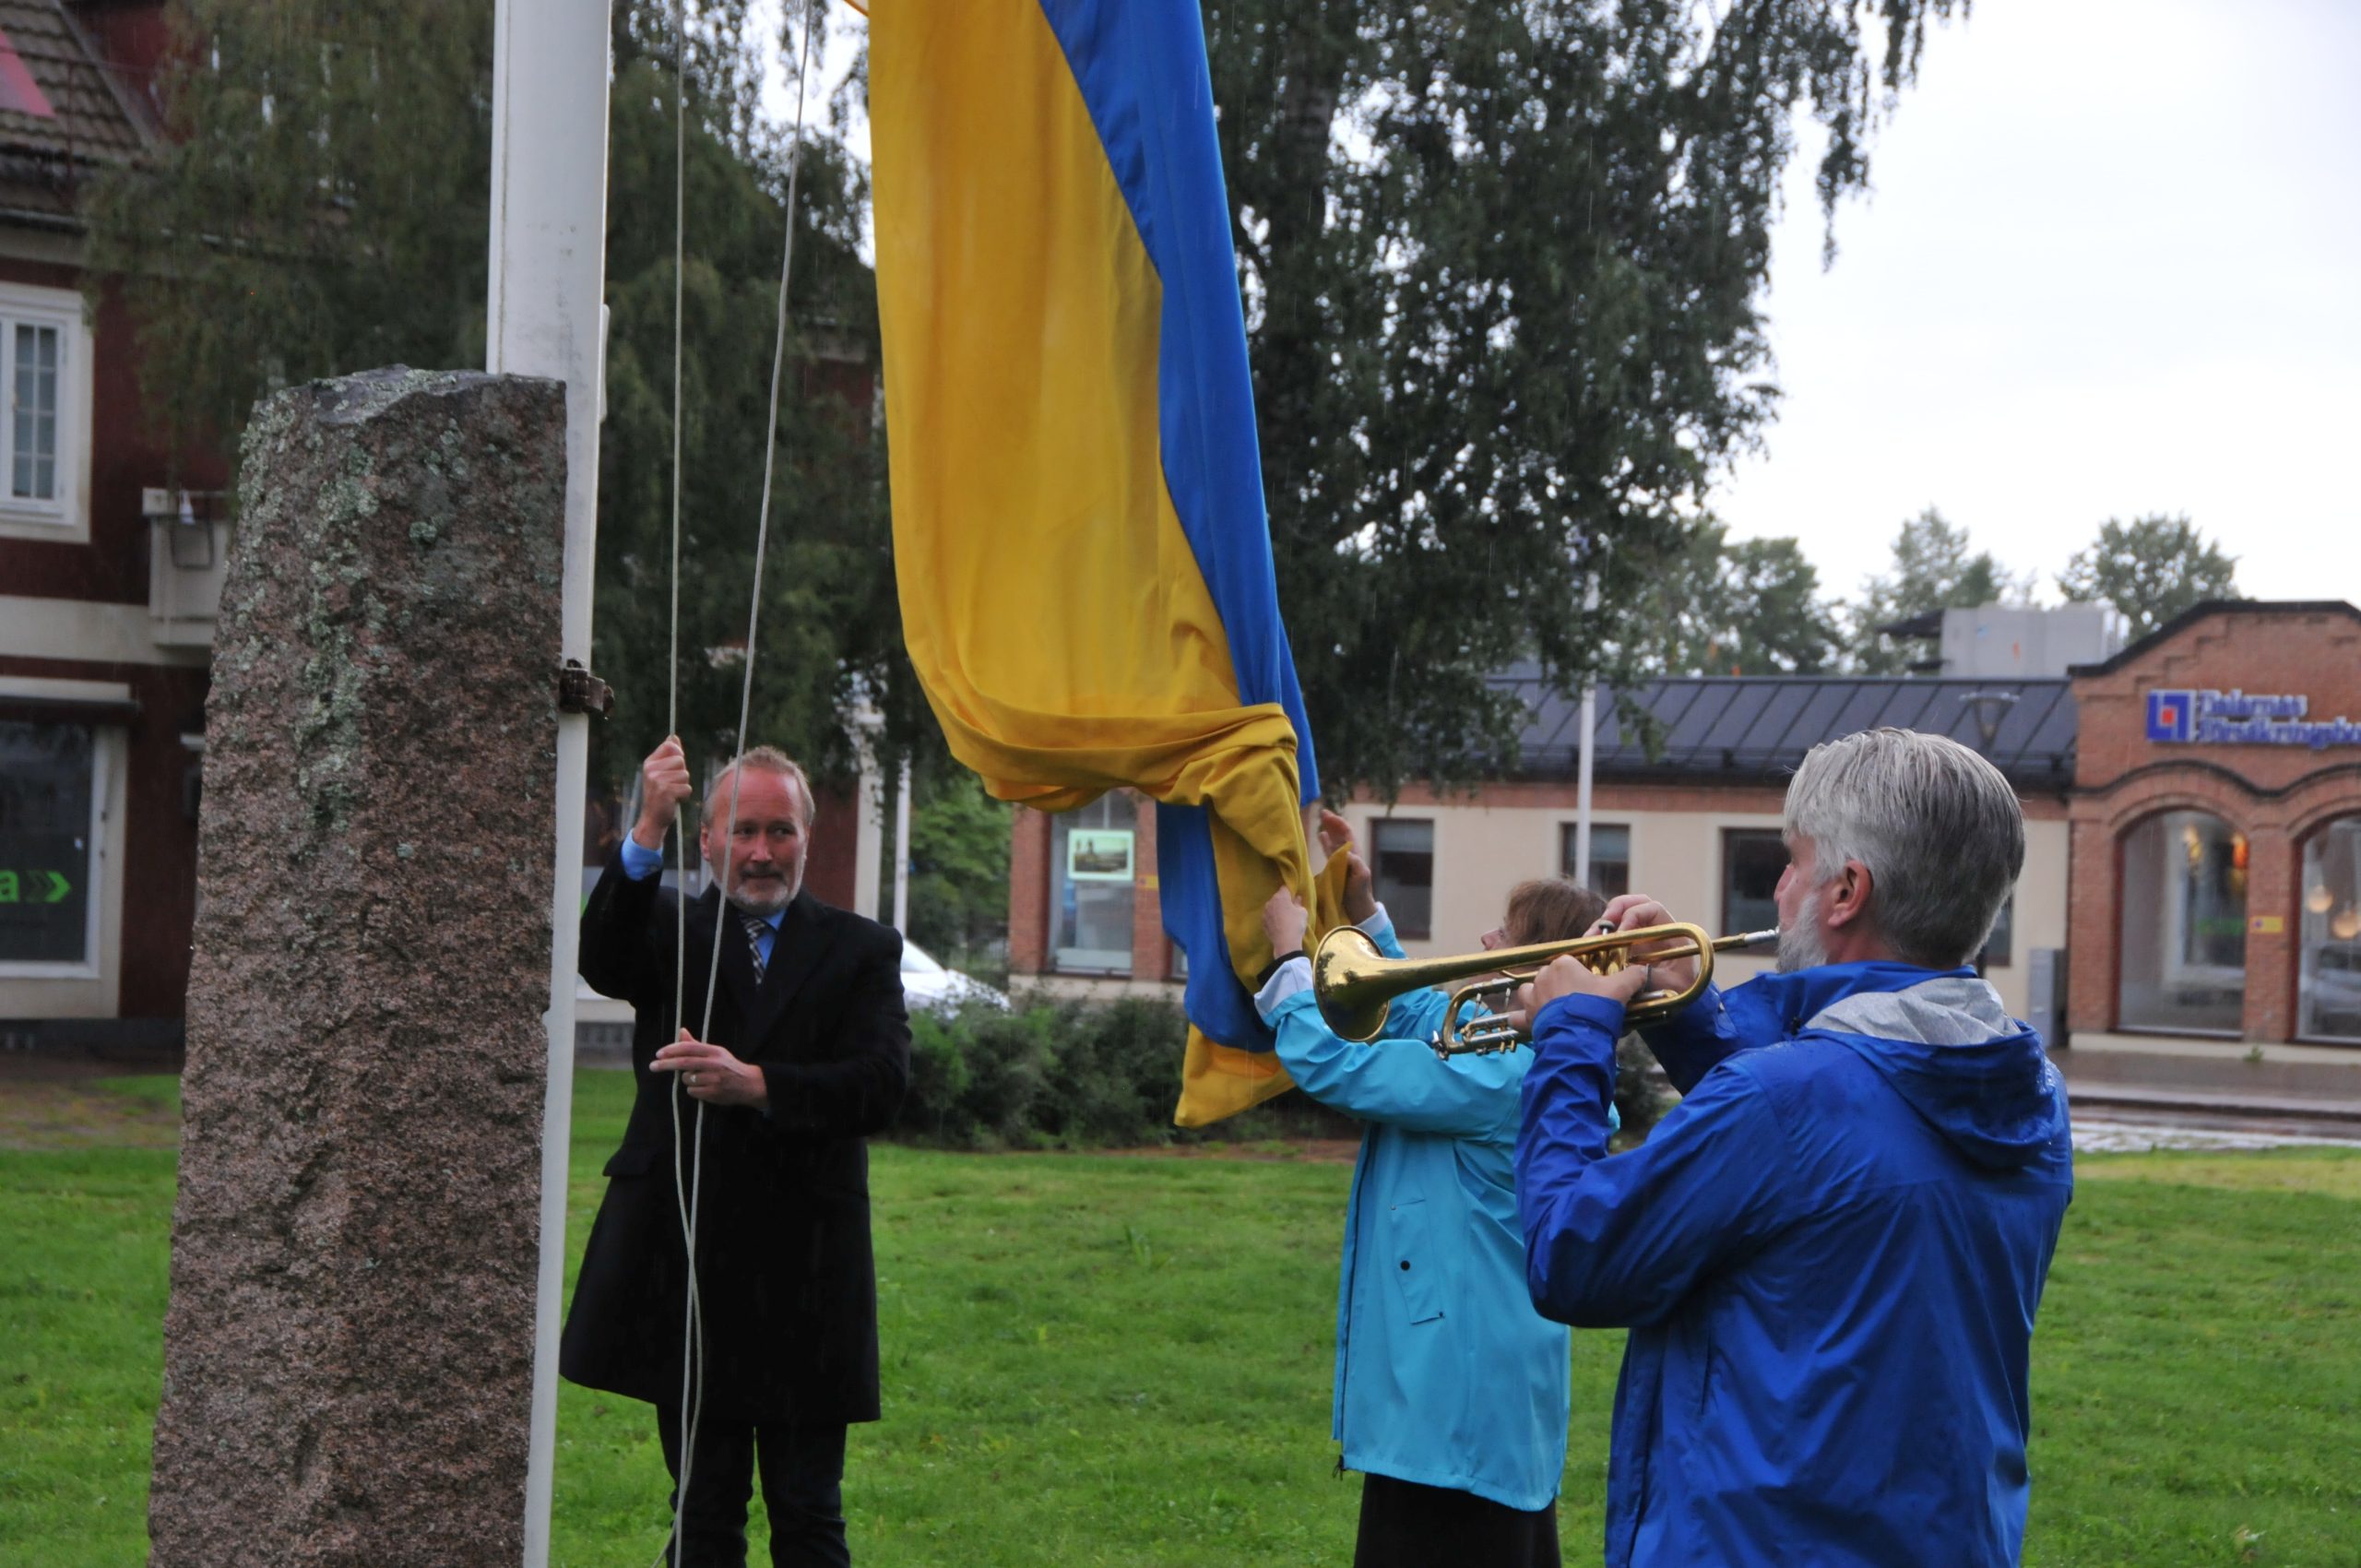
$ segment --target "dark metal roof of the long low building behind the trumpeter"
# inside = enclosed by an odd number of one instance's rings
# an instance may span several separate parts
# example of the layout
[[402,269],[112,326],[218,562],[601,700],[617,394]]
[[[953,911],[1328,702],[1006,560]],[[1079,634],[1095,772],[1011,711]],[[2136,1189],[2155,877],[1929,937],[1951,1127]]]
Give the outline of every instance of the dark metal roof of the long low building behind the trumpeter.
[[[1518,692],[1532,713],[1518,737],[1523,777],[1572,777],[1582,704],[1549,690],[1532,666],[1495,675],[1492,685]],[[1641,725],[1624,723],[1624,704],[1655,720],[1655,756]],[[1990,741],[1979,711],[1995,720]],[[2059,678],[1683,675],[1622,692],[1601,687],[1591,767],[1622,782],[1785,784],[1820,741],[1877,725],[1948,734],[1993,758],[2021,791],[2073,784],[2073,682]]]

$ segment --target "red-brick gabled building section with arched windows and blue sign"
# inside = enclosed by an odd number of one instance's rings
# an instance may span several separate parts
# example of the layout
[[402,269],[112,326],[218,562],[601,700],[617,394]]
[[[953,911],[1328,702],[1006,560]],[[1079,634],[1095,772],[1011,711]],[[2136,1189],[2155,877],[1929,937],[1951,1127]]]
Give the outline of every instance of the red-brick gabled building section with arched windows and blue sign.
[[2361,1044],[2361,612],[2200,605],[2075,704],[2073,1030]]

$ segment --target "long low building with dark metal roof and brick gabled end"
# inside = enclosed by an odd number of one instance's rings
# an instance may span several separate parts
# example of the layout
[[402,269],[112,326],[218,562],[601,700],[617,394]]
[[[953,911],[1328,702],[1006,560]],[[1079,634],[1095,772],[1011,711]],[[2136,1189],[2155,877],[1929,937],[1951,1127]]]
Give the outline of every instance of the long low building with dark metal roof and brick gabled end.
[[[2002,638],[1988,671],[1953,659],[1945,678],[1650,682],[1629,697],[1655,720],[1653,749],[1601,701],[1594,886],[1643,888],[1719,930],[1768,926],[1804,751],[1875,725],[1931,730],[1990,756],[2026,808],[2026,869],[1983,952],[2012,1011],[2092,1046],[2361,1046],[2361,612],[2200,605],[2030,675],[2028,647]],[[1412,954],[1473,949],[1511,883],[1575,864],[1580,708],[1532,675],[1502,680],[1532,711],[1513,777],[1346,803]],[[1176,992],[1145,803],[1117,791],[1018,815],[1008,954],[1058,989]],[[1724,959],[1733,978],[1764,966]]]

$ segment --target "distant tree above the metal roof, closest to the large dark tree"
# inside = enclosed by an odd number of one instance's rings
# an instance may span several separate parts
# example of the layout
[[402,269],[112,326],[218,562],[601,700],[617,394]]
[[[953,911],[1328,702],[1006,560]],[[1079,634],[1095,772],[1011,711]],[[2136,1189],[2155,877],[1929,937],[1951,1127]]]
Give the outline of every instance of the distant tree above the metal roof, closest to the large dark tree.
[[1794,538],[1728,541],[1702,522],[1639,588],[1634,664],[1655,675],[1818,675],[1842,633]]

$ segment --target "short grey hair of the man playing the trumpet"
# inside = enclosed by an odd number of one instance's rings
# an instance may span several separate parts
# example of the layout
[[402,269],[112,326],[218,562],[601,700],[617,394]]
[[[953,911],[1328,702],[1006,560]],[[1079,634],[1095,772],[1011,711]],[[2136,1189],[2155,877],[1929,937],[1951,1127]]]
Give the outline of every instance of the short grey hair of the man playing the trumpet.
[[1905,963],[1971,963],[2026,864],[2026,812],[1988,760],[1941,734],[1820,741],[1787,784],[1787,838],[1825,886],[1858,860],[1868,919]]

